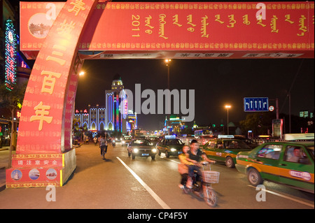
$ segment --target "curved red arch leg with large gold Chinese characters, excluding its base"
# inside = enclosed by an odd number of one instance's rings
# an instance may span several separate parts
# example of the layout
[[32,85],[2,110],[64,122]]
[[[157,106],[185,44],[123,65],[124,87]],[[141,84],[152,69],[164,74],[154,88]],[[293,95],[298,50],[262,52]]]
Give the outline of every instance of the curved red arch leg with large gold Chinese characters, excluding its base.
[[59,153],[71,148],[73,101],[81,32],[97,1],[67,1],[31,71],[22,106],[17,154]]

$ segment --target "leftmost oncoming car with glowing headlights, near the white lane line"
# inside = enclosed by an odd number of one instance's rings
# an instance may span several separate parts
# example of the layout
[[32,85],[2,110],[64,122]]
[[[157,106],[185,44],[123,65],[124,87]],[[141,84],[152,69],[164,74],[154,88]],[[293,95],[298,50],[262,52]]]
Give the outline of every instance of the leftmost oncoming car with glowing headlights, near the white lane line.
[[132,159],[135,157],[151,157],[155,160],[157,153],[156,148],[151,145],[151,142],[142,138],[132,139],[127,147],[127,151],[128,157],[131,156]]

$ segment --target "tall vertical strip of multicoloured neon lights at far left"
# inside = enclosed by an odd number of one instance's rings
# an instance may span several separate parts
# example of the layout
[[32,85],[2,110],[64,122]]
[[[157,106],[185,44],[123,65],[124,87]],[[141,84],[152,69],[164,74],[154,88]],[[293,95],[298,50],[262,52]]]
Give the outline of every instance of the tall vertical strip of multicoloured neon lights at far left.
[[16,83],[16,34],[12,20],[6,20],[6,67],[5,85],[7,89],[13,89]]

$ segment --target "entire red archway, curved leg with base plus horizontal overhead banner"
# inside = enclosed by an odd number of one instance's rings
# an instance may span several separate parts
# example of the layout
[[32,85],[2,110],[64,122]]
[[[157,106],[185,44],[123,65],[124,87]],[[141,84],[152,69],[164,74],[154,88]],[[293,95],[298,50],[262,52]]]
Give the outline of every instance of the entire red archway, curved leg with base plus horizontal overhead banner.
[[[85,59],[314,58],[314,1],[20,3],[20,51],[36,59],[7,187],[62,186]],[[257,13],[260,11],[260,16]]]

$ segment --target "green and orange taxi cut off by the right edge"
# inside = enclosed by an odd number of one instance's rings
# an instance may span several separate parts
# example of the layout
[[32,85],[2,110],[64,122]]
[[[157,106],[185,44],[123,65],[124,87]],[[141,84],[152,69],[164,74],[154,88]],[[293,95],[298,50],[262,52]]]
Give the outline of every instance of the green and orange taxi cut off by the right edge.
[[269,180],[314,194],[314,141],[263,143],[239,152],[235,167],[253,186]]

